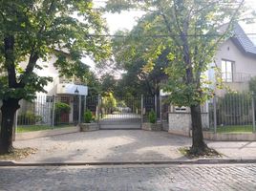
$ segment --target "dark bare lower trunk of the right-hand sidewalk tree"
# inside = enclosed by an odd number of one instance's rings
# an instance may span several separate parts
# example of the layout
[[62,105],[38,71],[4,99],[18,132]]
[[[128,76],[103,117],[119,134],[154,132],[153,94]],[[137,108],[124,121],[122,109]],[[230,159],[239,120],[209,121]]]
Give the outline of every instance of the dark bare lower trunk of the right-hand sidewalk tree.
[[203,141],[203,126],[200,104],[190,107],[192,119],[192,149],[193,153],[201,153],[207,148]]

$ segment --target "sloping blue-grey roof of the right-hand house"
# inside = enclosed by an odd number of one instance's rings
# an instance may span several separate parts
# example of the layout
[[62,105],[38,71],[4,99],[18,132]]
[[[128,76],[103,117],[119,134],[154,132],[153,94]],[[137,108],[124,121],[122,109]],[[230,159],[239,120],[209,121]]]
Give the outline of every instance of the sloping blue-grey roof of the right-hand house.
[[234,26],[234,35],[232,40],[244,51],[245,53],[256,55],[256,46],[252,43],[245,31],[239,24]]

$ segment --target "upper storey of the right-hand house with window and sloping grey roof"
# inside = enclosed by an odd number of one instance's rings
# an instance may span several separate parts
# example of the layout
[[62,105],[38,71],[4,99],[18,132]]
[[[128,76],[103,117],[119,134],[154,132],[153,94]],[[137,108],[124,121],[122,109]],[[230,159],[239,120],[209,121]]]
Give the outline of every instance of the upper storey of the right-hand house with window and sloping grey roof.
[[217,96],[224,96],[228,91],[239,93],[249,91],[249,80],[256,76],[256,46],[245,34],[240,25],[234,27],[233,36],[224,41],[214,57],[211,67],[218,67],[221,72],[223,89],[217,88],[213,69],[210,69],[209,79]]

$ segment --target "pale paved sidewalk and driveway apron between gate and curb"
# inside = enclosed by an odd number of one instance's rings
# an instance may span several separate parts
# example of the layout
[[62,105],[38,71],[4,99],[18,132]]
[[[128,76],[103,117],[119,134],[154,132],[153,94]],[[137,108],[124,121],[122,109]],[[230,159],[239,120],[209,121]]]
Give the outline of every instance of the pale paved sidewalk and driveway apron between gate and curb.
[[[189,160],[178,151],[190,146],[191,138],[167,132],[102,130],[15,141],[15,147],[33,147],[38,152],[17,162],[126,162]],[[256,159],[256,141],[208,141],[224,154],[223,159]]]

